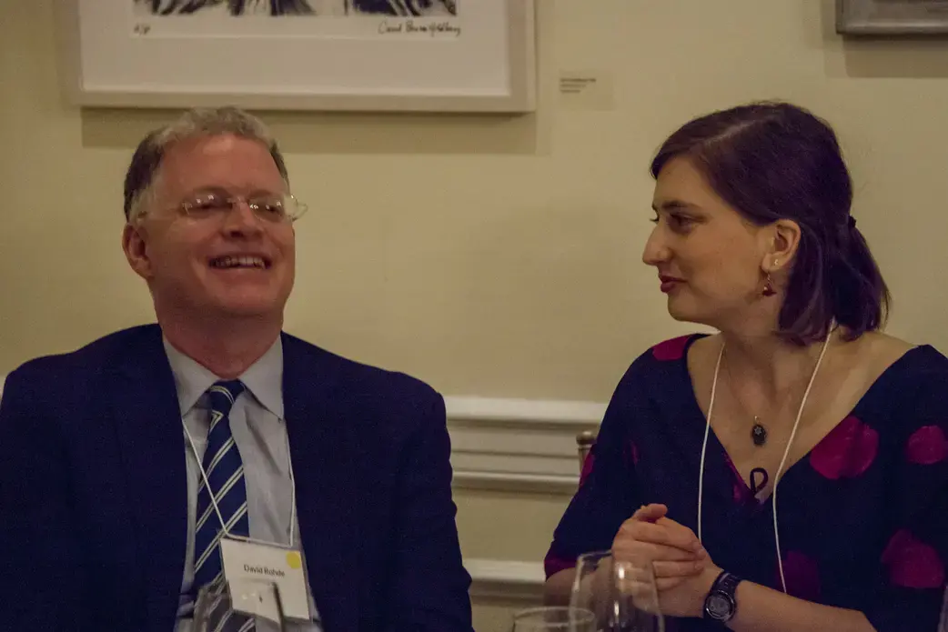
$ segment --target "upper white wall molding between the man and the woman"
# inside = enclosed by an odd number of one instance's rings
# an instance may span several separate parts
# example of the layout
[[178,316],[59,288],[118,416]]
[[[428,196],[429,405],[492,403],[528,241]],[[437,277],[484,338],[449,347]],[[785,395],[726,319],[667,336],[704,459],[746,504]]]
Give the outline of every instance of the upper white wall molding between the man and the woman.
[[448,396],[454,485],[572,494],[579,479],[576,435],[595,430],[596,402]]

